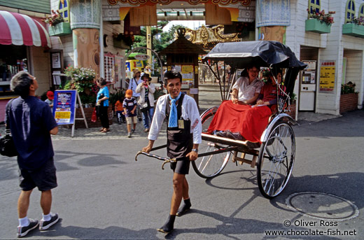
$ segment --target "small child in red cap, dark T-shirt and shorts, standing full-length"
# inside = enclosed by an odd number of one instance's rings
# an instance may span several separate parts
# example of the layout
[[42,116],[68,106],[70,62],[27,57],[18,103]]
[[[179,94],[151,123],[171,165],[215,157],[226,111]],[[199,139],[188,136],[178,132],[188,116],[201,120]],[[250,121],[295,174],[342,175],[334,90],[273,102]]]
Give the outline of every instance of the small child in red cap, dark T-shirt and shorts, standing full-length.
[[[132,97],[133,91],[127,90],[125,92],[125,99],[123,101],[124,114],[127,117],[127,137],[132,137],[132,133],[135,132],[135,127],[137,127],[137,100]],[[133,123],[133,129],[132,129]]]

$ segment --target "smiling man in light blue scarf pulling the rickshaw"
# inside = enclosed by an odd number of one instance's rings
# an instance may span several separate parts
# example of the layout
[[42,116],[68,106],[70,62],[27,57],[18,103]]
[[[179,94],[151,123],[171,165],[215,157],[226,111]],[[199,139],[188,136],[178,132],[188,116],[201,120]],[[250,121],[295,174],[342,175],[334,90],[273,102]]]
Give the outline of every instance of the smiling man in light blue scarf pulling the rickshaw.
[[[148,135],[149,143],[143,151],[151,151],[163,121],[168,118],[167,155],[170,158],[186,157],[185,160],[171,163],[171,169],[174,171],[171,210],[165,225],[158,229],[159,232],[168,234],[174,229],[176,216],[182,216],[191,207],[186,174],[190,169],[190,161],[198,157],[198,146],[202,142],[202,125],[195,99],[181,93],[181,73],[167,71],[165,78],[165,87],[169,94],[158,99]],[[179,209],[182,198],[183,204]]]

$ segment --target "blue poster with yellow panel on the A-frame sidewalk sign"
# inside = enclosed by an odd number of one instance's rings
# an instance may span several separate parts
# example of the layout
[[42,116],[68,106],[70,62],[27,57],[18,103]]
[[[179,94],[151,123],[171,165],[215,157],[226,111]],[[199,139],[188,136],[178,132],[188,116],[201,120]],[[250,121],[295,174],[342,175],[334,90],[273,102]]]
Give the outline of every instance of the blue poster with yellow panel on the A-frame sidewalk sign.
[[53,114],[58,125],[74,124],[77,90],[55,90]]

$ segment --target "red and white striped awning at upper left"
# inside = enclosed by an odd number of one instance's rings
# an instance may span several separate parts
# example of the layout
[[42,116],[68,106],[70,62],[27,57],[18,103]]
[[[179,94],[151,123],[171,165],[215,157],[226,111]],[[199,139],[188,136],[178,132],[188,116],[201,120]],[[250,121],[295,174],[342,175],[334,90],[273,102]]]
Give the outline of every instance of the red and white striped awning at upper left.
[[39,22],[4,10],[0,10],[0,44],[51,46],[48,32]]

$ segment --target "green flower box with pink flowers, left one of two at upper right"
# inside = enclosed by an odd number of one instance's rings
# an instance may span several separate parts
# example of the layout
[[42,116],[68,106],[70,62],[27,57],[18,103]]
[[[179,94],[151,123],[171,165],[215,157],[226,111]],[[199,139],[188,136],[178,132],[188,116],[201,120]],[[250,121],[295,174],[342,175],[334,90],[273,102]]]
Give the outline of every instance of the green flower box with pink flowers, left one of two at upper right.
[[334,17],[332,14],[335,14],[334,11],[330,11],[325,13],[325,10],[321,10],[316,13],[311,13],[311,10],[307,9],[309,13],[309,19],[305,22],[305,30],[313,31],[318,34],[330,34],[331,24],[334,23]]

